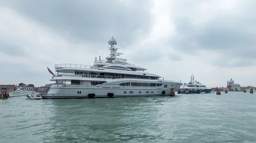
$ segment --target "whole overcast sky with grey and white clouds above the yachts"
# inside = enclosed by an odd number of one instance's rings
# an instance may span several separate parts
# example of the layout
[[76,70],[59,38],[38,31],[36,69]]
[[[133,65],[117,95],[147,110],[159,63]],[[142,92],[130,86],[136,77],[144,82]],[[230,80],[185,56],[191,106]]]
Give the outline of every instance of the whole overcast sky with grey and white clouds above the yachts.
[[256,0],[0,0],[0,84],[52,83],[55,64],[120,58],[164,79],[256,86]]

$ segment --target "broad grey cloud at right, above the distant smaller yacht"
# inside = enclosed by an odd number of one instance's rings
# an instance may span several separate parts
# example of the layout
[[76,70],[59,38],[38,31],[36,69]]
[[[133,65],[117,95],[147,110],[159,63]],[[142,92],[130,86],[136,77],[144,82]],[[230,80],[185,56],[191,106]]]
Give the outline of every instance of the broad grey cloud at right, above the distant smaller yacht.
[[[237,25],[243,25],[244,21],[223,17],[207,22],[201,27],[194,26],[189,21],[176,21],[179,34],[171,42],[180,50],[251,48],[256,44],[255,34],[244,31],[243,26],[237,28]],[[254,23],[256,24],[256,19]]]

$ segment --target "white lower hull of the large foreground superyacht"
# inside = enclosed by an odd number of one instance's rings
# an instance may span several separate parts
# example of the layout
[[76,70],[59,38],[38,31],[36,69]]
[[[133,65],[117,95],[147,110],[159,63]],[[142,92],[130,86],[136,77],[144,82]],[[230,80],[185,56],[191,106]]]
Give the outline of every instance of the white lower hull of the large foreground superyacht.
[[[169,88],[163,88],[165,85]],[[107,84],[107,86],[104,84],[52,84],[47,95],[42,95],[42,98],[90,98],[90,95],[93,95],[93,98],[164,96],[169,95],[171,89],[177,90],[180,86],[180,83],[175,82],[165,82],[160,87],[120,86],[119,84]]]

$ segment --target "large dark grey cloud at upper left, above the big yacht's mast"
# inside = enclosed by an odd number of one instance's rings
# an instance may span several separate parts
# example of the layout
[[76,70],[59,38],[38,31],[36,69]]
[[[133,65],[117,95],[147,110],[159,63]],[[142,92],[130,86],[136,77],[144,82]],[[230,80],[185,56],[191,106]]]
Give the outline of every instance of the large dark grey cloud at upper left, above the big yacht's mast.
[[148,34],[152,26],[152,3],[129,0],[6,0],[2,6],[68,34],[70,41],[106,43],[115,36],[124,45],[138,35]]

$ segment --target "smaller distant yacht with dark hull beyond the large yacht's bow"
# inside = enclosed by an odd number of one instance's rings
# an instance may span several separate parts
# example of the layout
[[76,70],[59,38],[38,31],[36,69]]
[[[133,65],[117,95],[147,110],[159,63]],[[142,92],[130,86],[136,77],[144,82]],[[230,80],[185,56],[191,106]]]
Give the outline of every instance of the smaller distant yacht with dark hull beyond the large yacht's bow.
[[185,94],[188,90],[189,94],[199,94],[199,93],[211,93],[212,89],[201,84],[199,81],[195,80],[192,74],[189,84],[184,83],[178,90],[178,94]]

